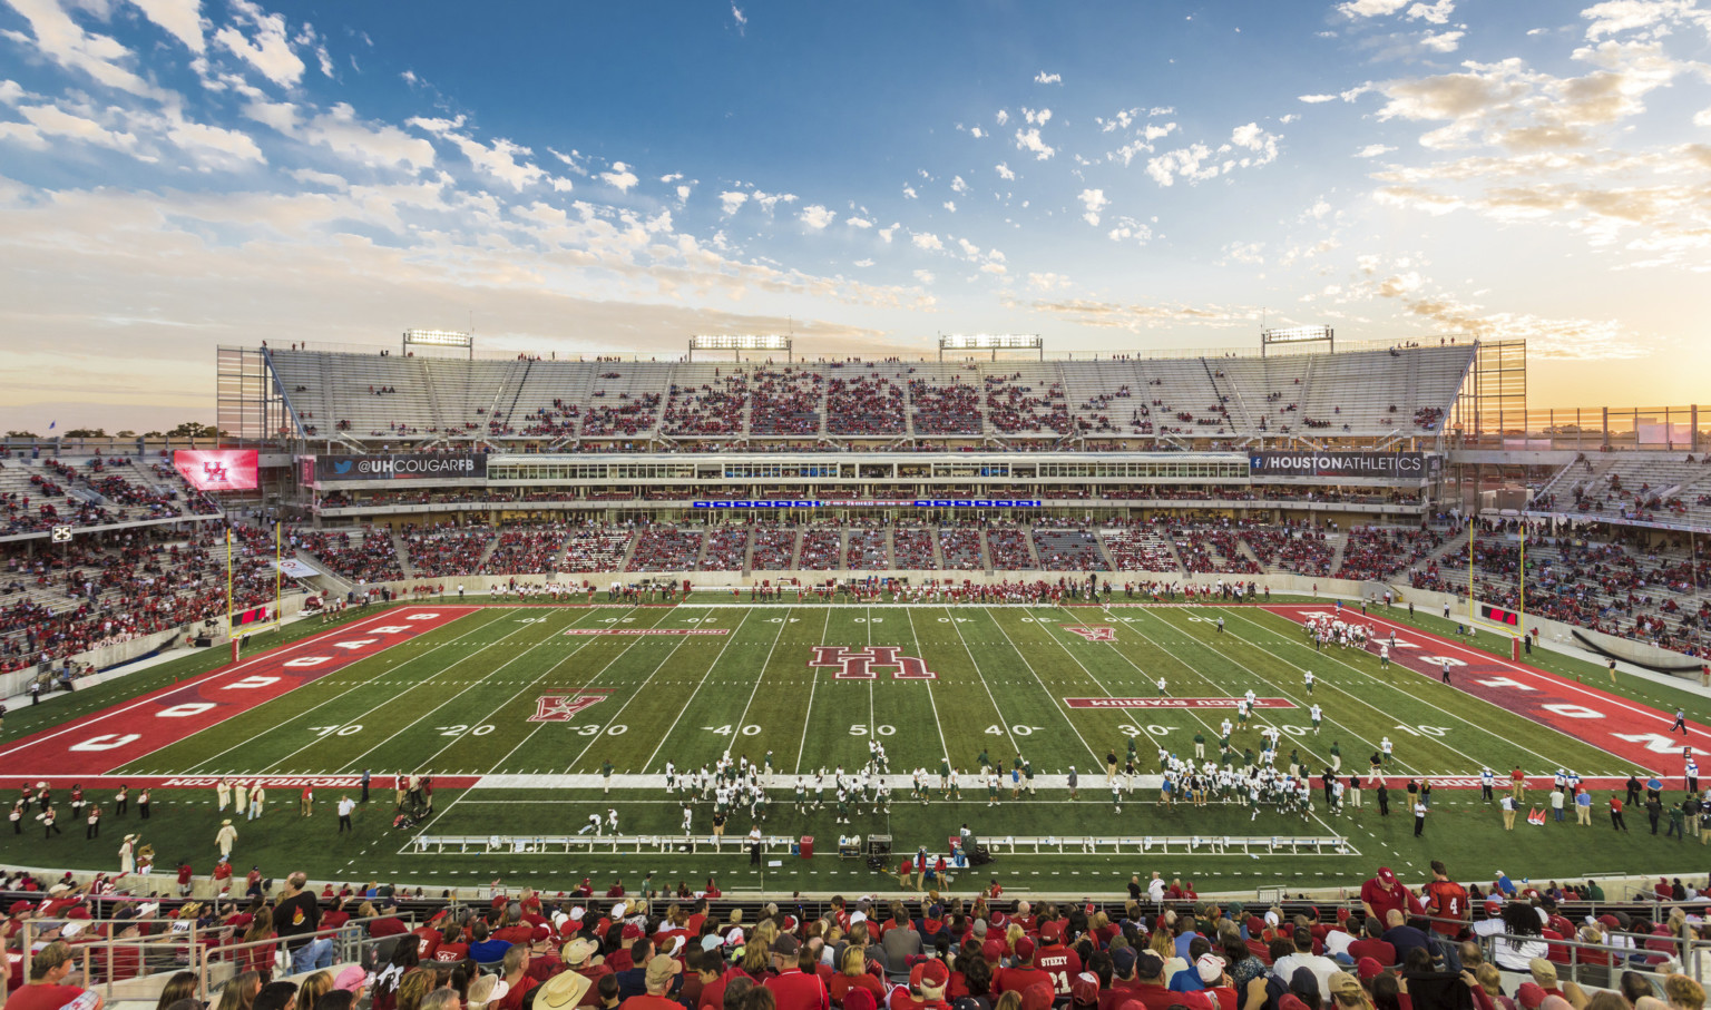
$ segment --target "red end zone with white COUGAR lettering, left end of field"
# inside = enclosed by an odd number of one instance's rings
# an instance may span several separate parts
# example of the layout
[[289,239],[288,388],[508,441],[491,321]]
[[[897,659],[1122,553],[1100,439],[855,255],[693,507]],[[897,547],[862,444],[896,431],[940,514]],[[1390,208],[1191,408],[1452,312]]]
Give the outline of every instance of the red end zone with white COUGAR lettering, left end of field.
[[[116,784],[108,769],[125,767],[163,746],[217,726],[240,712],[282,697],[329,673],[368,659],[472,613],[474,606],[406,606],[325,635],[305,639],[94,712],[77,722],[43,729],[0,750],[7,777],[0,787],[67,779],[86,787]],[[212,784],[214,779],[127,775],[132,786]],[[351,784],[356,784],[354,781]]]

